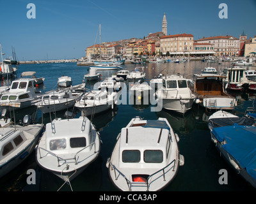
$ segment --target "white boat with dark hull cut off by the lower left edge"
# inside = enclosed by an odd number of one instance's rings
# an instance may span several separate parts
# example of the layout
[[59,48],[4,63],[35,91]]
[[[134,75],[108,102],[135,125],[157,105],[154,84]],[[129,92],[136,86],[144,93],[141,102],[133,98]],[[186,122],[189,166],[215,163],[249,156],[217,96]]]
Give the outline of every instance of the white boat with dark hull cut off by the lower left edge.
[[0,177],[16,168],[33,152],[43,128],[43,124],[16,124],[0,128]]

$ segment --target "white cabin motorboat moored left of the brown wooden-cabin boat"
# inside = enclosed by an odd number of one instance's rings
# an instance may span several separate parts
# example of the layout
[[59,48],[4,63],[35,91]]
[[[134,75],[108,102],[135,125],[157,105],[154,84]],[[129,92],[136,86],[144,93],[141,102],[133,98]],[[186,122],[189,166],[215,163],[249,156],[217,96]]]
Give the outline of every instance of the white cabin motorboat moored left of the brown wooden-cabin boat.
[[156,91],[157,103],[163,108],[179,113],[186,113],[196,99],[188,86],[188,79],[180,75],[166,75],[161,89]]

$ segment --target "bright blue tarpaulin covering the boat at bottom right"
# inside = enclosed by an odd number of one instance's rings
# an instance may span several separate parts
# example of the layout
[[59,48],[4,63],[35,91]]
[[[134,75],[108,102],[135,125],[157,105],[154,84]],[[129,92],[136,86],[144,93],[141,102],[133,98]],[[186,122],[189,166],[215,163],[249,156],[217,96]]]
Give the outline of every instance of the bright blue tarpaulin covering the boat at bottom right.
[[256,179],[256,127],[235,124],[214,128],[212,134],[219,142],[226,140],[222,148]]

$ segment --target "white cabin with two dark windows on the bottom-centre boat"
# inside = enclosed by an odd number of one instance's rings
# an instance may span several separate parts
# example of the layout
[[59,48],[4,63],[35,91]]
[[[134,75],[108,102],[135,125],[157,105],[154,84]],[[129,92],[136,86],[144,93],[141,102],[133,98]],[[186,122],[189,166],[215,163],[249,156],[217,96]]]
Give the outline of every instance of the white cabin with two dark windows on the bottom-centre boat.
[[133,121],[131,127],[122,128],[120,134],[120,168],[166,166],[172,141],[165,121]]

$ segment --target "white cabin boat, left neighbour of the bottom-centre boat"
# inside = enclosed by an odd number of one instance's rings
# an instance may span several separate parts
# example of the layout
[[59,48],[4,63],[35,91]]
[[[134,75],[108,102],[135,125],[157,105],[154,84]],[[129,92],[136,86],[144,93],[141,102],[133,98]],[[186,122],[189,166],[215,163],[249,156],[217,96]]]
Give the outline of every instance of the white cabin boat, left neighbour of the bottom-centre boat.
[[100,145],[99,133],[87,118],[55,119],[46,124],[36,163],[70,182],[99,156]]

